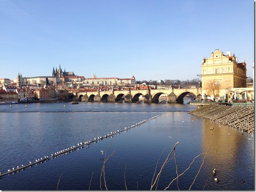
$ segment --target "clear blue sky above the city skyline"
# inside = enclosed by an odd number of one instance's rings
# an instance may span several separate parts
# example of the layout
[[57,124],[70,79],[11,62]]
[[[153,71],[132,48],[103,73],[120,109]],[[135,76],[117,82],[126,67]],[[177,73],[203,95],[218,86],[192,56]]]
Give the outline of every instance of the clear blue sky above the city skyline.
[[0,0],[0,78],[192,80],[215,49],[254,61],[253,0]]

